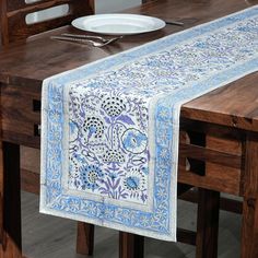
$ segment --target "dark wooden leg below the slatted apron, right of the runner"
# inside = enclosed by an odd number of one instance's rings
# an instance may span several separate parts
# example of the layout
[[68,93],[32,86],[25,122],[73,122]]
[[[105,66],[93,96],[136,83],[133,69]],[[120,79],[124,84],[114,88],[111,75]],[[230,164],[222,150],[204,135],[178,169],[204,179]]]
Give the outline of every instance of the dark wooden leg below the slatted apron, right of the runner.
[[197,258],[218,256],[220,192],[199,188],[197,218]]

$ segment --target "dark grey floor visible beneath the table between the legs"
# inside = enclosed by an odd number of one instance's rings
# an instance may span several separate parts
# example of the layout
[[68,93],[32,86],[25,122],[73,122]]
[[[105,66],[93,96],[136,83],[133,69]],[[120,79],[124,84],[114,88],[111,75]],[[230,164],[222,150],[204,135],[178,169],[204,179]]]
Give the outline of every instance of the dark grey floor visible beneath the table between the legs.
[[[75,222],[38,213],[38,197],[22,192],[23,249],[30,258],[83,258],[75,255]],[[178,203],[178,224],[195,230],[196,206]],[[239,257],[241,215],[221,212],[219,257]],[[118,257],[118,234],[96,227],[94,258]],[[145,258],[194,258],[195,247],[146,239]]]

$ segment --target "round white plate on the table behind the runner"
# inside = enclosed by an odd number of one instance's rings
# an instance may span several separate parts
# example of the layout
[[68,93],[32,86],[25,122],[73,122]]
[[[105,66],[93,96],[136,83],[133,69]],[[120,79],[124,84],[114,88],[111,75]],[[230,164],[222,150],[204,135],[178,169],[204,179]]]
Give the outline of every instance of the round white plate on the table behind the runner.
[[77,28],[106,35],[133,35],[164,27],[157,17],[137,14],[96,14],[72,21]]

